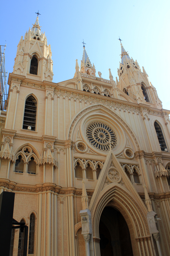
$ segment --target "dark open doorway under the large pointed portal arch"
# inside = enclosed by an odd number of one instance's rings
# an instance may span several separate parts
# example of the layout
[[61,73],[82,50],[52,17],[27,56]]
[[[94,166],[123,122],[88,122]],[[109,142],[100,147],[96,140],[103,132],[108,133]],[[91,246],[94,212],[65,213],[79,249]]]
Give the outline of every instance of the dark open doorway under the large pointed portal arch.
[[99,221],[100,255],[133,256],[128,225],[122,214],[105,207]]

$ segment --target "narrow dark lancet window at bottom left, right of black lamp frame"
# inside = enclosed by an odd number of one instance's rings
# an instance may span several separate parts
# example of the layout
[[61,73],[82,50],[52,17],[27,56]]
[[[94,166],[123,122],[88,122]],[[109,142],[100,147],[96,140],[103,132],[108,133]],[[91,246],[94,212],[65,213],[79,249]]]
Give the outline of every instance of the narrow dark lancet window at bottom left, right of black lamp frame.
[[32,213],[30,216],[29,224],[29,254],[34,254],[34,236],[35,236],[35,214]]

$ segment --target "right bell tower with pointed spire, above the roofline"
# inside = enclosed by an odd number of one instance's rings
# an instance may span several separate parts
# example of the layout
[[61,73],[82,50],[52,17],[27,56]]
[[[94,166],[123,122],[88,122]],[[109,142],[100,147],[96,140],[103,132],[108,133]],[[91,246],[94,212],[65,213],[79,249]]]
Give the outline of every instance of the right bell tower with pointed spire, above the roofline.
[[152,105],[162,108],[162,102],[158,98],[157,91],[148,79],[146,71],[141,71],[137,60],[130,58],[125,51],[121,39],[121,62],[118,69],[118,88],[133,98],[138,103]]

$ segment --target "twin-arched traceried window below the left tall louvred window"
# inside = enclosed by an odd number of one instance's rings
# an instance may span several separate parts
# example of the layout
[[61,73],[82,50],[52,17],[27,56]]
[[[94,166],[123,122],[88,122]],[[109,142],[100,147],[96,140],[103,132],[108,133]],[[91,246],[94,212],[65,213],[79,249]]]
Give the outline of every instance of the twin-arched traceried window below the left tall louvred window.
[[26,146],[16,153],[15,172],[37,174],[38,158],[32,148]]

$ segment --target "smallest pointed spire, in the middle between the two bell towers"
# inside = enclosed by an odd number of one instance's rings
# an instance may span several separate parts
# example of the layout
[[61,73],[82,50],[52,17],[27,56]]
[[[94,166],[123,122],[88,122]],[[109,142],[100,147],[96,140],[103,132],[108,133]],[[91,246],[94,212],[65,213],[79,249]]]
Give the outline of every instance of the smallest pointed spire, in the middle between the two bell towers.
[[92,66],[84,45],[83,45],[83,58],[81,60],[80,72],[88,75],[96,76],[96,70],[95,70],[94,64]]

